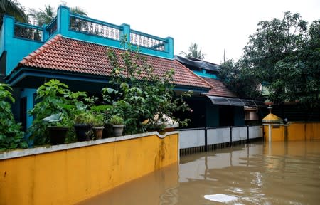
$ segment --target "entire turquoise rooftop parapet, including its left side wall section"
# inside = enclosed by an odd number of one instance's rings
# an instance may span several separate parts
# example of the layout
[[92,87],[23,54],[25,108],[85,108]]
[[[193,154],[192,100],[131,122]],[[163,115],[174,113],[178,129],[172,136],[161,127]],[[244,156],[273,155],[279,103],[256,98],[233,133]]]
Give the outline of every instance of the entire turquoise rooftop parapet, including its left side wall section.
[[6,59],[9,63],[6,75],[9,75],[23,57],[58,33],[67,38],[115,48],[122,48],[120,39],[125,35],[132,45],[139,46],[141,53],[161,58],[174,58],[174,39],[171,37],[160,38],[134,31],[127,24],[117,26],[87,16],[71,14],[68,7],[60,6],[57,17],[42,27],[18,23],[11,16],[4,16],[0,34],[0,55],[4,51],[10,56],[14,55]]

